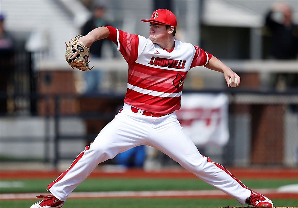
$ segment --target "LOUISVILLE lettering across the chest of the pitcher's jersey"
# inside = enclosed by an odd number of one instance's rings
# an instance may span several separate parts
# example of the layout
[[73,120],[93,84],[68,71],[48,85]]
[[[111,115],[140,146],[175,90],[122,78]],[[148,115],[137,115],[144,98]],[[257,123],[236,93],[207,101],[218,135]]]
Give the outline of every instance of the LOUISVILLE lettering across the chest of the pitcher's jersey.
[[186,60],[175,60],[175,59],[166,59],[166,58],[159,58],[159,57],[151,57],[151,60],[148,64],[154,66],[162,66],[167,68],[174,68],[174,69],[184,69]]

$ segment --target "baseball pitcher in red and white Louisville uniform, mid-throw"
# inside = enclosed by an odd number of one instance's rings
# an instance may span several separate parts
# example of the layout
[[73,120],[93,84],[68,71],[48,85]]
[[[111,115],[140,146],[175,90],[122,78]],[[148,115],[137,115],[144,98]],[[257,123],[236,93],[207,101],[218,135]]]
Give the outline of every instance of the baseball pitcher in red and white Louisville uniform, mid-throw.
[[[177,20],[173,12],[159,9],[149,20],[142,21],[150,23],[148,39],[111,26],[96,28],[79,38],[85,48],[103,38],[117,44],[117,51],[128,62],[124,105],[90,146],[86,146],[70,167],[48,185],[50,195],[38,196],[44,199],[31,208],[62,207],[69,194],[100,162],[139,145],[157,148],[240,204],[272,208],[273,203],[267,197],[249,189],[223,166],[201,155],[173,112],[180,108],[184,79],[191,68],[203,65],[224,73],[228,87],[229,78],[236,77],[239,85],[240,77],[207,51],[174,39]],[[68,61],[78,57],[79,51],[74,52]]]

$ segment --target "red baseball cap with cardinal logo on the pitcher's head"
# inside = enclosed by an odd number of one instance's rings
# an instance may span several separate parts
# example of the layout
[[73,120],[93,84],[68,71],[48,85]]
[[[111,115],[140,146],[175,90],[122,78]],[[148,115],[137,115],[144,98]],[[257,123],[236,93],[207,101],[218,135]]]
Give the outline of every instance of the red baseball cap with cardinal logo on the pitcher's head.
[[177,19],[173,12],[167,9],[159,9],[153,12],[150,20],[142,20],[143,22],[155,22],[163,25],[177,27]]

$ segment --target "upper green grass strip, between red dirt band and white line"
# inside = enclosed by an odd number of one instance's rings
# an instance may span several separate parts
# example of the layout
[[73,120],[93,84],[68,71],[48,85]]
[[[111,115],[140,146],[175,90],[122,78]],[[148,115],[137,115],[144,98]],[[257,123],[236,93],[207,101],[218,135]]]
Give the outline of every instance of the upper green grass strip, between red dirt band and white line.
[[[1,182],[17,181],[23,187],[1,188],[0,193],[27,193],[45,192],[46,186],[53,179],[14,179],[1,180]],[[241,180],[247,187],[259,188],[278,188],[283,185],[297,184],[297,179],[284,180]],[[142,191],[142,190],[212,190],[211,185],[199,179],[86,179],[75,191]]]

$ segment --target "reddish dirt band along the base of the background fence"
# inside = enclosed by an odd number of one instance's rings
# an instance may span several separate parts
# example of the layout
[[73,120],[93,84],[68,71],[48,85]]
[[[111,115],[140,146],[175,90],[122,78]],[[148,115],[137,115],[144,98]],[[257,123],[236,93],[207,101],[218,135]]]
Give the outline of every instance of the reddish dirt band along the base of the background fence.
[[[247,179],[298,179],[297,168],[227,168],[236,178]],[[0,178],[56,178],[61,171],[0,171]],[[94,170],[89,178],[196,178],[193,173],[179,170],[144,171],[143,169],[105,172]]]

